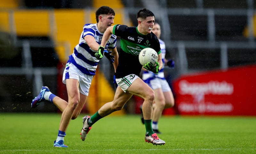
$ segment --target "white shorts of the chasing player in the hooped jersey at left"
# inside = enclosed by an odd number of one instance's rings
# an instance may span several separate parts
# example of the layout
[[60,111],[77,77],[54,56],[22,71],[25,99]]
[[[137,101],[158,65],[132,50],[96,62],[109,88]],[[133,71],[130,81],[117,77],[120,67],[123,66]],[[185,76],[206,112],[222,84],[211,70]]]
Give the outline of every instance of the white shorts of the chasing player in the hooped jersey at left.
[[92,75],[83,74],[75,65],[67,63],[63,72],[62,82],[66,84],[66,79],[76,79],[79,81],[79,92],[88,96],[92,84]]

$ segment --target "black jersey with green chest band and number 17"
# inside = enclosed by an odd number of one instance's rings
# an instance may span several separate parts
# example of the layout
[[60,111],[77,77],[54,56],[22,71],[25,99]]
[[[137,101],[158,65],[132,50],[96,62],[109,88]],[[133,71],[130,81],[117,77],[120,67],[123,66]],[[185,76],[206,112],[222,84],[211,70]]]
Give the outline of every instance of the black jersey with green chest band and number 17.
[[143,35],[138,31],[137,27],[116,24],[113,34],[121,38],[121,49],[119,52],[118,67],[116,68],[117,79],[129,74],[140,76],[142,65],[139,61],[139,54],[142,49],[150,47],[157,54],[161,53],[159,40],[153,32]]

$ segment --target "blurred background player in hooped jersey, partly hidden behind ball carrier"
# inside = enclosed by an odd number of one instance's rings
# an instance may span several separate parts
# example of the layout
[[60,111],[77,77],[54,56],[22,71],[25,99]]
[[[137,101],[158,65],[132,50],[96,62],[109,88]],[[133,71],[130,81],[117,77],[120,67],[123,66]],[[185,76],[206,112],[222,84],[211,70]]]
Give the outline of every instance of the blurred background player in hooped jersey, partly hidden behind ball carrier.
[[[155,22],[155,25],[152,29],[152,32],[157,36],[161,51],[162,51],[162,61],[163,64],[167,64],[169,67],[174,67],[173,60],[165,59],[165,43],[160,39],[161,27],[158,23]],[[164,65],[163,65],[164,68]],[[162,112],[165,108],[171,108],[174,106],[174,98],[172,90],[169,87],[168,82],[164,77],[164,69],[161,69],[158,74],[154,74],[151,71],[144,69],[142,74],[142,80],[146,82],[155,92],[155,103],[153,105],[153,117],[152,117],[152,128],[155,133],[160,134],[158,130],[158,121],[162,115]],[[141,122],[144,123],[143,113],[141,110]]]

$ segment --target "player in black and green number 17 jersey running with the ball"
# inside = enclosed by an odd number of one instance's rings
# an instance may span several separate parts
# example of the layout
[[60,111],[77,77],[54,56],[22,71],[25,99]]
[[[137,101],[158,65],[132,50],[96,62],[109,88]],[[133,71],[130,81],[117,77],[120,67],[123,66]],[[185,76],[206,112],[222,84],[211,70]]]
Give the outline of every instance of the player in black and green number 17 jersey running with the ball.
[[158,53],[158,62],[155,65],[148,63],[143,67],[156,74],[163,67],[159,41],[156,35],[151,32],[155,22],[155,15],[148,9],[141,9],[137,13],[137,20],[137,27],[116,24],[108,27],[104,32],[99,51],[95,53],[98,59],[103,57],[104,46],[113,34],[121,38],[121,49],[115,73],[118,87],[113,101],[104,104],[92,117],[84,116],[81,132],[82,140],[85,140],[87,133],[95,122],[114,111],[121,110],[132,95],[136,95],[144,99],[142,110],[146,127],[145,141],[154,145],[165,144],[154,133],[151,124],[155,93],[139,77],[142,65],[138,56],[140,51],[146,47],[153,48]]

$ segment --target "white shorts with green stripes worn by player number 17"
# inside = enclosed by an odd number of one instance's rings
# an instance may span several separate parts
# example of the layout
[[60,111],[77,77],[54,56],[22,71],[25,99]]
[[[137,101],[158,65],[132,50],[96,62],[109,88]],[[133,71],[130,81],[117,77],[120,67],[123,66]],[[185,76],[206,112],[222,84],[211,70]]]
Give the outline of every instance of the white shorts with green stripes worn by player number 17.
[[116,83],[124,92],[126,92],[127,89],[131,86],[132,82],[137,78],[139,78],[137,75],[130,74],[123,78],[116,79]]

